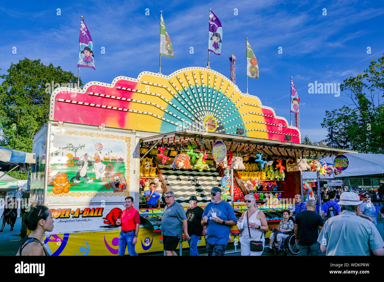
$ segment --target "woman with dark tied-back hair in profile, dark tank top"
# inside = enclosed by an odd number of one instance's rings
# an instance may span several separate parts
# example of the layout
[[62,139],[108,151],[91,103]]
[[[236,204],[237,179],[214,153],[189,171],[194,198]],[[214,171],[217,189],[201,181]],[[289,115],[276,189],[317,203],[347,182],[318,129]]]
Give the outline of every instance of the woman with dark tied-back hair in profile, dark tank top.
[[43,243],[45,231],[53,230],[52,212],[46,206],[31,206],[24,222],[31,234],[24,237],[16,256],[49,256]]

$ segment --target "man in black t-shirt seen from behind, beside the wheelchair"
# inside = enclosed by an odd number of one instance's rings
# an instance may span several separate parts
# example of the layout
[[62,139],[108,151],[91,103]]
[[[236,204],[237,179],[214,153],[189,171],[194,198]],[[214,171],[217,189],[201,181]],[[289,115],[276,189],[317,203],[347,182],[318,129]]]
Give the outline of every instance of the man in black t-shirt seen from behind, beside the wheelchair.
[[300,256],[322,255],[320,244],[317,242],[319,232],[323,229],[323,218],[315,212],[316,201],[307,201],[307,210],[296,215],[295,236]]

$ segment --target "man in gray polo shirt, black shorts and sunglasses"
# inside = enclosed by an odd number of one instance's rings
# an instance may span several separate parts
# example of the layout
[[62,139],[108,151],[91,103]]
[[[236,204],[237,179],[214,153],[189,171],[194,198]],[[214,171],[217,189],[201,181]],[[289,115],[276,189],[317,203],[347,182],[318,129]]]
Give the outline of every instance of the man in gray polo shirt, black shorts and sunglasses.
[[184,208],[175,201],[172,191],[166,192],[166,206],[161,217],[161,234],[163,234],[163,246],[166,256],[177,256],[175,250],[180,238],[184,235],[187,240],[188,235],[187,216]]

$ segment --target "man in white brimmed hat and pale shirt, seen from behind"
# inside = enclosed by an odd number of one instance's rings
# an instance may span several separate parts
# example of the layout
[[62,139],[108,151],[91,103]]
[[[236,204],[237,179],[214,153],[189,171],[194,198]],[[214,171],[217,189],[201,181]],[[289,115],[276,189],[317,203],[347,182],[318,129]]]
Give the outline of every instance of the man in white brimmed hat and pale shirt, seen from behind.
[[359,215],[360,197],[354,192],[340,195],[341,214],[329,218],[317,239],[327,256],[384,256],[384,241],[376,226]]

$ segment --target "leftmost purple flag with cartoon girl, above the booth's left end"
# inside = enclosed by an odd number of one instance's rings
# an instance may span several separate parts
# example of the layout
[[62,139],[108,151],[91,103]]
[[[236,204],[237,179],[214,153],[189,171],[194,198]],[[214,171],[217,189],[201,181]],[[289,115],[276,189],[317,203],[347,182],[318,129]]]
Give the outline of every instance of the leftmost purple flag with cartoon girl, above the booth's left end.
[[80,24],[79,45],[79,61],[77,62],[77,66],[95,69],[93,42],[83,18],[81,18]]

